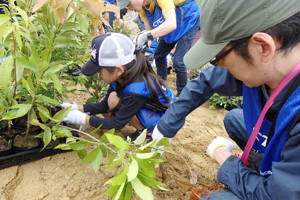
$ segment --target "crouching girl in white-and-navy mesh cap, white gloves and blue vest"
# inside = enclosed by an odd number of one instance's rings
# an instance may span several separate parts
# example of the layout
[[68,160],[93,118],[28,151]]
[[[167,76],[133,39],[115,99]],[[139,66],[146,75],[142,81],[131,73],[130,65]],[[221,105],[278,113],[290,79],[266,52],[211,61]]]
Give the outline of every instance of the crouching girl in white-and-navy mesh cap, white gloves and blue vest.
[[[92,41],[90,60],[81,68],[86,76],[96,73],[109,83],[105,98],[94,104],[71,106],[64,121],[73,124],[89,124],[104,129],[122,129],[127,123],[137,129],[132,140],[148,129],[148,139],[154,126],[176,97],[164,80],[152,69],[151,64],[135,48],[133,42],[120,33],[105,33]],[[91,115],[102,114],[105,118]]]

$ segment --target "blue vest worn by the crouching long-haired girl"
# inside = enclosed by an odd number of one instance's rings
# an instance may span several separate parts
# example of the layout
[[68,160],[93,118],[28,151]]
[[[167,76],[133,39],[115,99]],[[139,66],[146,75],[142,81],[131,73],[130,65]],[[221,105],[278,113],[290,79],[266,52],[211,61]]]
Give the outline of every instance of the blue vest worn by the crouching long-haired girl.
[[[154,84],[154,82],[153,82]],[[116,90],[117,81],[111,83],[112,87]],[[155,84],[154,84],[155,85]],[[157,90],[157,86],[155,85],[158,99],[163,104],[168,104],[168,102],[163,98],[162,94]],[[162,87],[164,94],[168,97],[168,99],[173,99],[172,102],[176,101],[176,97],[173,92],[170,90],[169,87],[164,88]],[[123,97],[127,94],[137,94],[141,96],[151,97],[148,82],[136,82],[130,85],[127,85],[123,91]],[[165,114],[162,112],[156,112],[153,114],[153,110],[147,108],[140,108],[137,112],[137,117],[139,118],[141,124],[146,127],[147,129],[153,130],[160,118]]]

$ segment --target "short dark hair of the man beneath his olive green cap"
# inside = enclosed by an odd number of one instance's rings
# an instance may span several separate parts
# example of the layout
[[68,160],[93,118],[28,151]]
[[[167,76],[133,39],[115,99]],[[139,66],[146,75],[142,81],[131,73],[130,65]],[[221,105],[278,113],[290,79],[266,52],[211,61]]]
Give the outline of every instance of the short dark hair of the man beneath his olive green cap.
[[[281,43],[281,47],[278,50],[287,53],[300,42],[300,12],[262,32],[266,32],[272,37],[277,37]],[[248,44],[251,37],[248,36],[229,43],[230,45],[235,45],[234,50],[249,63],[251,63],[251,55],[248,51]]]

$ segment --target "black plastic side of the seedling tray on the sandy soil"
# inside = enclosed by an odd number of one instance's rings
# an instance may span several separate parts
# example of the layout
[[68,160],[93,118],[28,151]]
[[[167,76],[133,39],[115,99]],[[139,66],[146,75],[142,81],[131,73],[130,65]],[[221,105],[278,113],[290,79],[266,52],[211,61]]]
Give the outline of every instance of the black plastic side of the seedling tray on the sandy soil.
[[15,153],[8,156],[0,157],[0,169],[12,167],[15,165],[21,165],[48,156],[53,156],[59,153],[72,151],[72,150],[61,150],[61,149],[53,149],[53,148],[48,148],[48,149],[45,148],[44,150],[42,149],[43,148],[37,148],[29,151],[23,151],[20,153]]

